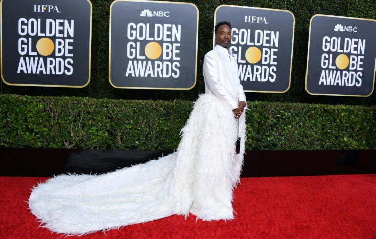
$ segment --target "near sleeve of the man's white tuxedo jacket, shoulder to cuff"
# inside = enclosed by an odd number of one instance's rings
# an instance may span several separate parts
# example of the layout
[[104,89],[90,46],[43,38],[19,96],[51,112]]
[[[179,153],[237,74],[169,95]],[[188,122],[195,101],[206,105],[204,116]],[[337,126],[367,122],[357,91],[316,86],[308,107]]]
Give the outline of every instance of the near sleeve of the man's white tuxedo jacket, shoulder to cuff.
[[[221,100],[226,102],[231,109],[238,107],[238,99],[235,98],[231,91],[229,91],[220,80],[220,75],[218,74],[218,68],[222,67],[218,64],[218,59],[213,54],[206,54],[204,58],[203,74],[206,84],[208,84],[210,90]],[[243,93],[244,94],[244,93]]]

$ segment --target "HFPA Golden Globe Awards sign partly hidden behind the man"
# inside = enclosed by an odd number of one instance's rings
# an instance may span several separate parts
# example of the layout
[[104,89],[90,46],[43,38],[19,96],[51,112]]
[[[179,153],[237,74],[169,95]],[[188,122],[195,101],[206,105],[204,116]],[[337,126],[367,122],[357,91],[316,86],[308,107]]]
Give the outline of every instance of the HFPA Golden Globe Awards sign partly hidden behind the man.
[[[294,15],[286,10],[221,5],[214,25],[232,25],[230,49],[246,92],[284,93],[290,88]],[[215,40],[213,45],[215,44]]]

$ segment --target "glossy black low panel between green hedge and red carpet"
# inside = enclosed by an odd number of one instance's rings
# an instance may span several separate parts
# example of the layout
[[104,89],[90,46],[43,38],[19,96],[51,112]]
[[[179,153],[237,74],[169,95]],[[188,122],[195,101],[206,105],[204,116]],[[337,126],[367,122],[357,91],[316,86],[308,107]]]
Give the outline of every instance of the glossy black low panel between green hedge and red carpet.
[[[0,176],[102,174],[171,153],[144,150],[0,148]],[[242,177],[376,173],[376,150],[246,151]]]

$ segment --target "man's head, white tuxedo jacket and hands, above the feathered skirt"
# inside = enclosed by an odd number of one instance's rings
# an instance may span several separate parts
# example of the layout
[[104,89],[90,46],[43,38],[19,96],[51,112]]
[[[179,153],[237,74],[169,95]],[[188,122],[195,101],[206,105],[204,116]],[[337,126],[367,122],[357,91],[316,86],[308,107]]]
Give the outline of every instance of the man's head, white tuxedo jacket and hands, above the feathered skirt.
[[204,58],[205,91],[226,102],[239,118],[246,107],[246,97],[238,76],[238,64],[229,49],[231,24],[218,22],[214,31],[216,46]]

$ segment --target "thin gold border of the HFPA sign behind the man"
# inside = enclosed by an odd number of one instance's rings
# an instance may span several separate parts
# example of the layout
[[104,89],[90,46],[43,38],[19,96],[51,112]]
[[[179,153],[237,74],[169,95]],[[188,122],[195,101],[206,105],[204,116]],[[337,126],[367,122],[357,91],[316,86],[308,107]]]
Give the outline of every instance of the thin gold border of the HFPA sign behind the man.
[[261,9],[261,10],[270,10],[270,11],[278,11],[278,12],[288,12],[291,14],[291,16],[293,17],[294,19],[294,24],[293,24],[293,28],[292,28],[292,41],[291,41],[291,61],[290,61],[290,76],[289,76],[289,86],[287,87],[287,89],[285,91],[255,91],[255,90],[244,90],[244,92],[261,92],[261,93],[278,93],[278,94],[281,94],[281,93],[285,93],[287,92],[289,89],[290,89],[290,86],[291,86],[291,70],[292,70],[292,56],[293,56],[293,50],[294,50],[294,35],[295,35],[295,16],[292,12],[290,12],[289,10],[283,10],[283,9],[273,9],[273,8],[256,8],[256,7],[248,7],[248,6],[237,6],[237,5],[227,5],[227,4],[223,4],[223,5],[219,5],[216,10],[214,11],[214,26],[213,26],[213,48],[214,48],[214,39],[215,39],[215,33],[214,33],[214,28],[216,26],[216,18],[217,18],[217,10],[220,8],[220,7],[234,7],[234,8],[251,8],[251,9]]

